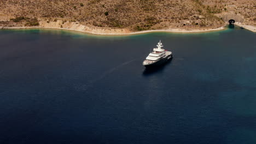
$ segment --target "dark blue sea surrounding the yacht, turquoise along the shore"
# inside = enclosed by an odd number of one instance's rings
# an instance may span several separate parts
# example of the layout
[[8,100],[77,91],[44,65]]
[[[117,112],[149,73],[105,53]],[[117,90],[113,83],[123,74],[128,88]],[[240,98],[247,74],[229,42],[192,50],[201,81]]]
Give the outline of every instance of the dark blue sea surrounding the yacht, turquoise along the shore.
[[256,34],[2,30],[0,143],[255,144]]

